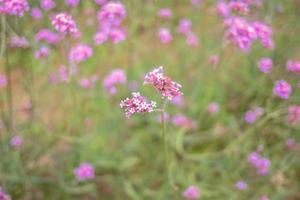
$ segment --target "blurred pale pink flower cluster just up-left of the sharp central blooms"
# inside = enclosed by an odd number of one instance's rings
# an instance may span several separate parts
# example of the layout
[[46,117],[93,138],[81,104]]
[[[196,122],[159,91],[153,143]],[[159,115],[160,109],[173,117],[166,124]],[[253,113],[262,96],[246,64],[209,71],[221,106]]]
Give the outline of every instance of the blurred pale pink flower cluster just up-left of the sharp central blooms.
[[114,95],[117,92],[116,85],[125,84],[126,80],[125,72],[122,69],[115,69],[104,78],[103,86],[111,95]]

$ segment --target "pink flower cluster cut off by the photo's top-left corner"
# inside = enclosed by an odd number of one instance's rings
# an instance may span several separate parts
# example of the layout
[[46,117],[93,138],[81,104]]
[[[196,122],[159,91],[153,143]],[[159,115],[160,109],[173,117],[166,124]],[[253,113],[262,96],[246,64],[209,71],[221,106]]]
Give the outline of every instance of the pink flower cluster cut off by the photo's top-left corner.
[[0,14],[6,13],[22,17],[29,10],[27,0],[1,0]]

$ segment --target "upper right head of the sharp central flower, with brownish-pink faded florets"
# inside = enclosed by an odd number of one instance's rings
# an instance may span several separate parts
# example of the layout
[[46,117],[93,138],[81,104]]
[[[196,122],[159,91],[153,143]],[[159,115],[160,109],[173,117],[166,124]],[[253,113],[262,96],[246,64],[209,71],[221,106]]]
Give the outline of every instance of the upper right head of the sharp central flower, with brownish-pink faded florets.
[[153,85],[161,94],[162,98],[167,98],[168,100],[182,95],[180,92],[181,85],[171,78],[164,76],[162,66],[146,74],[144,84]]

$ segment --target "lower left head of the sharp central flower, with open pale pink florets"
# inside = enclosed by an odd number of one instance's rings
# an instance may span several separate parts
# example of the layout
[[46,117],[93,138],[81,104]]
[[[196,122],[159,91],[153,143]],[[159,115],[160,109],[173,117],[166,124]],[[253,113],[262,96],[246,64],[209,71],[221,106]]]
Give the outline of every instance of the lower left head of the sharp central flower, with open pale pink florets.
[[148,103],[146,97],[143,97],[138,92],[132,93],[132,98],[126,98],[121,101],[120,107],[125,110],[125,116],[130,118],[134,113],[149,113],[153,112],[156,107],[156,102]]

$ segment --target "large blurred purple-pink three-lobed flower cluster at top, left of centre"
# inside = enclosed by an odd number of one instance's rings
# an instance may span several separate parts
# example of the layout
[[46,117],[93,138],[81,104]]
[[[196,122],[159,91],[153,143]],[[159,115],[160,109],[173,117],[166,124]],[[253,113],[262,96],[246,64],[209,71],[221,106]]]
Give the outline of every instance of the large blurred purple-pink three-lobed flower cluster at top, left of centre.
[[109,2],[105,4],[97,14],[99,30],[94,35],[97,45],[110,39],[114,44],[122,42],[126,38],[126,33],[121,27],[122,21],[126,17],[126,10],[119,2]]

